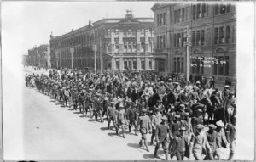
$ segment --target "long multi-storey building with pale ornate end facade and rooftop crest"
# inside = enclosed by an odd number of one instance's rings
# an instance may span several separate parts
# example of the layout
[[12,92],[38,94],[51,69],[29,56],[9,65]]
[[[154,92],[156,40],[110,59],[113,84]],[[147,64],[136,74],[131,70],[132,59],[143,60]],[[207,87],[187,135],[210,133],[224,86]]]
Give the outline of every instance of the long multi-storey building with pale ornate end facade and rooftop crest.
[[[89,22],[62,36],[50,36],[53,66],[112,70],[154,70],[154,18],[125,18]],[[96,51],[94,50],[96,45]]]

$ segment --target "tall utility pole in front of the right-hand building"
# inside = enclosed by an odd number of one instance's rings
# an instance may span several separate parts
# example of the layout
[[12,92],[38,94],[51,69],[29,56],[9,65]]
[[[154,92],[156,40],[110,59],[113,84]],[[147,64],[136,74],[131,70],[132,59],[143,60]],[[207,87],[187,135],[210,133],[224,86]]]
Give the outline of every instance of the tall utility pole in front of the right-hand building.
[[187,71],[186,71],[187,83],[189,81],[189,67],[190,67],[189,46],[191,45],[191,42],[189,42],[189,37],[191,37],[191,32],[190,32],[189,26],[187,25],[186,27],[184,27],[184,38],[186,38],[186,41],[184,41],[184,45],[187,47]]

